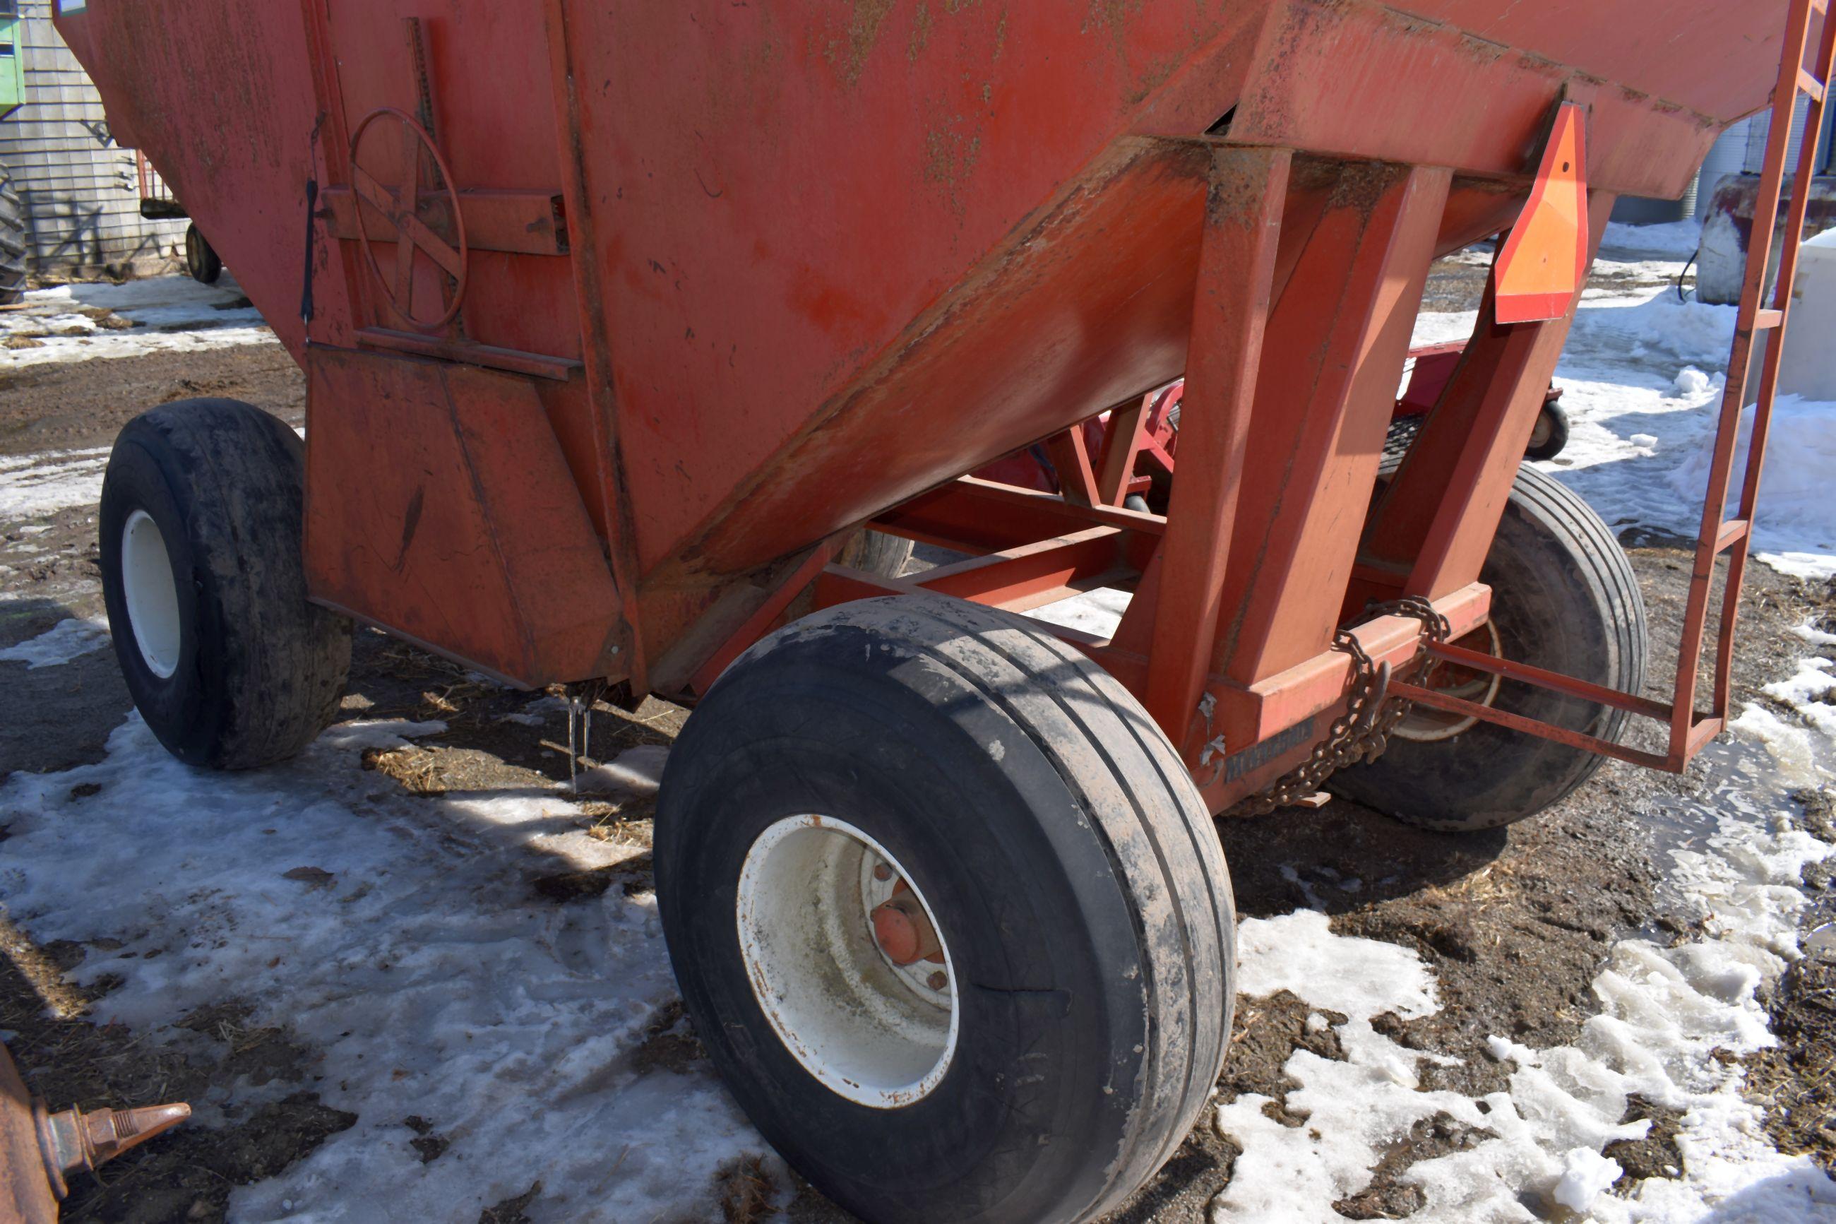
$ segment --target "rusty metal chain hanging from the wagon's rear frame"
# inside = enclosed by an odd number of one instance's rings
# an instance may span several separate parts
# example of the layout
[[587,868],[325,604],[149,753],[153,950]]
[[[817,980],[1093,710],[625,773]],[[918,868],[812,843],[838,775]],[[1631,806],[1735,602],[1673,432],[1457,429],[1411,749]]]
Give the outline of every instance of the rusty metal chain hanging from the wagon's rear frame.
[[[1423,637],[1428,642],[1445,644],[1452,637],[1452,624],[1436,611],[1434,604],[1410,595],[1388,604],[1371,604],[1364,609],[1366,618],[1377,617],[1414,617],[1421,620]],[[1370,653],[1348,629],[1333,633],[1333,650],[1351,655],[1351,699],[1346,712],[1333,719],[1326,738],[1313,745],[1313,752],[1294,771],[1283,774],[1267,791],[1243,800],[1243,811],[1252,817],[1267,815],[1278,807],[1318,795],[1320,784],[1340,769],[1375,762],[1390,747],[1390,732],[1408,718],[1410,703],[1390,697],[1390,664],[1371,662]],[[1417,684],[1427,684],[1439,661],[1427,657]]]

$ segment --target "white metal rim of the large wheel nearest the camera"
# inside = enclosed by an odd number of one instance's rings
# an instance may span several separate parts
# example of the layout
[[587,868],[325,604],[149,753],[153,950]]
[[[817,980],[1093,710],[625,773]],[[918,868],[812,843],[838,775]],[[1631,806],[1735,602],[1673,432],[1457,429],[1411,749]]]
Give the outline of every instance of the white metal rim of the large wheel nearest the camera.
[[[876,866],[889,868],[878,879]],[[898,881],[924,907],[944,963],[894,965],[868,914]],[[753,842],[740,870],[740,956],[784,1048],[830,1092],[872,1108],[927,1097],[957,1053],[957,969],[918,883],[861,829],[788,817]],[[929,980],[942,973],[944,989]]]

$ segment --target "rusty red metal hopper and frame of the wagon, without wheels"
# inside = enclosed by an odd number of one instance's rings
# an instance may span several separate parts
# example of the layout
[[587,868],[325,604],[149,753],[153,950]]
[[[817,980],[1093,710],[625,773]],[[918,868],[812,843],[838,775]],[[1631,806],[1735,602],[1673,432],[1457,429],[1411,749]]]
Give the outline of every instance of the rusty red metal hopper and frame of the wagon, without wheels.
[[[1513,231],[1568,123],[1592,235],[1678,195],[1766,103],[1785,15],[110,0],[59,29],[308,369],[318,600],[512,683],[692,695],[812,584],[1122,585],[1113,640],[1067,637],[1221,807],[1324,734],[1368,598],[1483,624],[1575,295],[1482,312],[1371,519],[1428,262]],[[1168,514],[1120,508],[1181,376]],[[1116,446],[1076,428],[1105,411]],[[962,479],[1036,444],[1061,495]],[[826,567],[865,523],[975,556]],[[1357,633],[1403,666],[1419,628]]]

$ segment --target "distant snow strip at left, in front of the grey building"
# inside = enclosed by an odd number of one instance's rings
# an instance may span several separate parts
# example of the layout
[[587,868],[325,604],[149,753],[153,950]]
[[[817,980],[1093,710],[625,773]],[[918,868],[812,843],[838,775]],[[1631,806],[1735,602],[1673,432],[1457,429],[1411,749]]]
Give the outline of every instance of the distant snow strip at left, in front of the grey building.
[[272,341],[228,273],[217,284],[187,275],[61,284],[31,290],[22,310],[0,312],[0,369]]

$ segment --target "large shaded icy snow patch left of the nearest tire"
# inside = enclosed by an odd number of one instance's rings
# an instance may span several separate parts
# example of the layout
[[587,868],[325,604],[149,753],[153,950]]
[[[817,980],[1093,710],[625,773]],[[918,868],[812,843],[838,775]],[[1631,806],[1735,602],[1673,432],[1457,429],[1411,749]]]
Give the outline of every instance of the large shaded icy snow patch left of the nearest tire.
[[[242,998],[325,1052],[312,1088],[358,1123],[231,1218],[470,1220],[536,1178],[545,1220],[718,1215],[716,1167],[769,1149],[711,1074],[633,1061],[676,996],[654,897],[564,908],[527,883],[632,851],[553,793],[413,798],[360,767],[441,729],[343,725],[286,767],[211,774],[130,716],[101,763],[0,785],[0,896],[39,941],[125,941],[79,971],[121,976],[99,1024],[158,1033]],[[437,1163],[409,1116],[452,1138]]]

